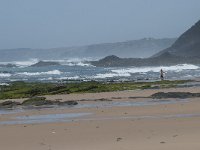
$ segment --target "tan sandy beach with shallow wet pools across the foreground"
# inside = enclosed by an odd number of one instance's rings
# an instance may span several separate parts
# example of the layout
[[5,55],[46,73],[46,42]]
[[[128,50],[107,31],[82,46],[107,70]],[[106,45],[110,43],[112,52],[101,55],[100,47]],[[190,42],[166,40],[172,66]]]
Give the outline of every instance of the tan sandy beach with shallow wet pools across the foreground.
[[[199,150],[200,99],[133,98],[148,97],[158,91],[199,92],[200,88],[46,96],[50,100],[77,100],[79,106],[2,113],[0,147],[2,150]],[[102,98],[112,101],[94,101]],[[55,114],[82,115],[50,118],[45,122],[48,115]],[[43,117],[40,122],[26,122],[33,116]],[[16,122],[17,117],[26,119]]]

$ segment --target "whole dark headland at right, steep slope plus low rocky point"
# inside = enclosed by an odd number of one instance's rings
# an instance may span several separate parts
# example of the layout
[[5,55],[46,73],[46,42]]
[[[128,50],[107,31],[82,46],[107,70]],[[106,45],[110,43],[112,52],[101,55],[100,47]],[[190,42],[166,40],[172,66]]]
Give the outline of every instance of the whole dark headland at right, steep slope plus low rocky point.
[[172,46],[149,58],[119,58],[108,56],[91,64],[99,67],[160,66],[200,64],[200,21],[183,33]]

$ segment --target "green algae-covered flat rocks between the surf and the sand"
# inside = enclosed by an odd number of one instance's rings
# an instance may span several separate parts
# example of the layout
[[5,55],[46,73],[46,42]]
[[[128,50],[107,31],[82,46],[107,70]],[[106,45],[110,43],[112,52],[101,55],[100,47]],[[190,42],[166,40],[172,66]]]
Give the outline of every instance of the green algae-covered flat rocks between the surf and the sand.
[[12,82],[9,86],[0,86],[0,99],[29,98],[42,95],[97,93],[135,89],[170,88],[189,81],[156,81],[156,82],[80,82],[80,83],[30,83]]

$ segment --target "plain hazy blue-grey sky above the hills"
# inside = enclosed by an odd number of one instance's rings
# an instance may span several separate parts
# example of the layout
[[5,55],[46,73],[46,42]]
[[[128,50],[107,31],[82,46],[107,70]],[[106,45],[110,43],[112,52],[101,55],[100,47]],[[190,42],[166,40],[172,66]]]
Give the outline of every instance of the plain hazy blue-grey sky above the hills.
[[0,49],[178,37],[200,0],[0,0]]

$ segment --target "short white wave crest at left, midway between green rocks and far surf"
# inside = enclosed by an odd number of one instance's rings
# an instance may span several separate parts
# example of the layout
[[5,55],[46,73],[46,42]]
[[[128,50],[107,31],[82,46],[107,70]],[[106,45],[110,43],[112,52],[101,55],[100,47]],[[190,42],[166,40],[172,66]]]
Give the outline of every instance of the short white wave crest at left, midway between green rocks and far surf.
[[17,73],[17,75],[25,75],[25,76],[40,76],[40,75],[61,75],[62,72],[59,70],[52,70],[47,72],[22,72]]

